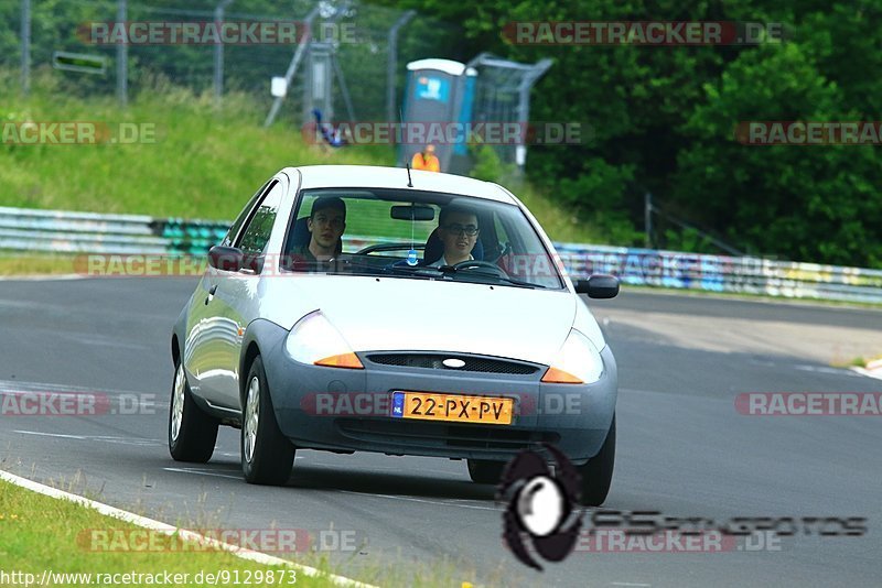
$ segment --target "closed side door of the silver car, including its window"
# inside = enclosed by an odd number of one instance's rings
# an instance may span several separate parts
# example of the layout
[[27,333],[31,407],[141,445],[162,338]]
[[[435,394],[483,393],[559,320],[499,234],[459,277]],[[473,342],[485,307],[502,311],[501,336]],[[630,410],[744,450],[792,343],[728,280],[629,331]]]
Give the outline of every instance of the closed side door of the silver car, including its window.
[[[275,178],[267,188],[260,204],[251,211],[243,230],[234,241],[248,259],[262,258],[272,233],[279,207],[288,189],[284,176]],[[214,306],[216,322],[214,355],[211,378],[214,403],[239,409],[239,358],[245,329],[255,318],[255,297],[259,275],[246,266],[238,272],[217,272],[216,290],[208,306]],[[223,275],[220,275],[223,274]],[[216,362],[216,363],[214,363]]]

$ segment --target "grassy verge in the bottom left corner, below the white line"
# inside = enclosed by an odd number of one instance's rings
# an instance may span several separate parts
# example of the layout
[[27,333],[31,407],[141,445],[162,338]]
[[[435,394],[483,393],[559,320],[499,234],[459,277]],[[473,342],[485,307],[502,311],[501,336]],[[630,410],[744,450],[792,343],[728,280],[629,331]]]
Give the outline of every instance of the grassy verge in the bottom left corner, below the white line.
[[[95,532],[99,534],[96,535]],[[101,532],[105,535],[100,535]],[[109,536],[120,541],[101,538],[108,532]],[[123,544],[132,547],[148,545],[140,540],[144,536],[143,533],[148,533],[147,530],[101,515],[74,502],[57,500],[0,481],[0,569],[7,574],[19,571],[41,578],[44,570],[51,570],[56,576],[50,585],[55,586],[140,586],[153,582],[146,581],[143,577],[136,581],[133,576],[126,584],[95,580],[100,579],[96,575],[105,574],[168,571],[172,575],[186,575],[187,580],[175,582],[178,586],[211,586],[212,582],[205,579],[205,575],[229,570],[232,574],[238,573],[239,578],[249,577],[251,586],[289,586],[293,584],[289,581],[293,578],[297,586],[334,586],[326,577],[309,577],[287,566],[265,566],[246,562],[206,545],[171,541],[163,544],[161,537],[164,536],[158,533],[150,538],[159,549],[120,547]],[[178,545],[178,549],[163,551],[161,547],[164,545]],[[269,574],[270,571],[273,574]],[[203,574],[202,582],[198,581],[200,573]],[[62,577],[63,574],[92,574],[93,579],[89,582],[82,576]],[[279,581],[280,574],[283,574],[282,581]],[[258,578],[260,581],[257,581]],[[23,584],[2,577],[0,582]],[[224,582],[218,585],[223,586]]]

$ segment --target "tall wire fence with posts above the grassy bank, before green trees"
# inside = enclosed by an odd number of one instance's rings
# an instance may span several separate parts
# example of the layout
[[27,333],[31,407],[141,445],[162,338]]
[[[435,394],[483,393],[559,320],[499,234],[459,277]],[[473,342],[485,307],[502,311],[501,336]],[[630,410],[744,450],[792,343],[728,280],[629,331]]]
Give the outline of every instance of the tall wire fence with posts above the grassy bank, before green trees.
[[[305,37],[303,23],[313,11]],[[398,112],[406,62],[463,58],[458,25],[410,14],[396,26],[406,14],[346,0],[8,0],[0,2],[0,67],[21,68],[25,91],[32,72],[50,72],[57,91],[69,95],[116,95],[125,102],[146,90],[179,86],[220,99],[229,91],[246,92],[269,111],[271,78],[284,76],[298,46],[305,44],[279,120],[300,126],[322,105],[325,120],[379,121]],[[298,35],[293,42],[245,36],[225,43],[202,34],[220,22],[240,30],[250,24],[258,33],[261,26],[293,23]],[[161,23],[166,36],[160,43],[139,42],[129,34],[136,23]],[[197,41],[169,40],[173,28],[180,32],[189,25],[198,28]],[[330,68],[319,79],[322,56]],[[316,91],[326,99],[318,100]]]

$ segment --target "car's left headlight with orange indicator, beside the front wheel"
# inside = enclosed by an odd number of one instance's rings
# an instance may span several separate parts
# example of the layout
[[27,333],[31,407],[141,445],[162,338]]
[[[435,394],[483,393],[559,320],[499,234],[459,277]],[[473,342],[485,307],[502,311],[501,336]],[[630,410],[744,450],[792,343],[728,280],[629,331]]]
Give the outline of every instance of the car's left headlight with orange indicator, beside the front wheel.
[[363,370],[349,344],[321,311],[308,314],[284,339],[284,349],[301,363]]

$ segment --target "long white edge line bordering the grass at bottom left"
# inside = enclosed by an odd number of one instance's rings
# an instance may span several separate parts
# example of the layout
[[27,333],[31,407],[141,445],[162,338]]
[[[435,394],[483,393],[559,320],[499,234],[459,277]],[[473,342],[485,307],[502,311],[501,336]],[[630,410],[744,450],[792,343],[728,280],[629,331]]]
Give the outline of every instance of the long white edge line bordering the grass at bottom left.
[[310,566],[304,566],[302,564],[295,564],[289,559],[282,559],[280,557],[273,557],[271,555],[267,555],[265,553],[255,552],[251,549],[246,549],[239,545],[232,545],[229,543],[224,543],[222,541],[217,541],[215,538],[205,537],[195,533],[189,529],[179,529],[174,525],[170,525],[168,523],[162,523],[160,521],[154,521],[153,519],[148,519],[147,516],[140,516],[138,514],[123,511],[121,509],[117,509],[110,507],[108,504],[104,504],[103,502],[97,502],[95,500],[89,500],[87,498],[83,498],[77,494],[72,494],[69,492],[64,492],[62,490],[57,490],[55,488],[51,488],[49,486],[44,486],[42,483],[35,482],[33,480],[29,480],[26,478],[21,478],[15,476],[14,473],[9,473],[8,471],[0,470],[0,479],[6,480],[10,483],[19,486],[21,488],[25,488],[28,490],[45,494],[47,497],[52,497],[60,500],[68,500],[82,507],[86,507],[88,509],[98,511],[99,513],[104,514],[105,516],[112,516],[114,519],[119,519],[120,521],[125,521],[127,523],[136,524],[138,526],[142,526],[144,529],[150,529],[152,531],[157,531],[164,535],[174,535],[178,533],[184,540],[190,540],[196,542],[200,545],[211,545],[218,549],[223,549],[229,552],[230,554],[235,555],[236,557],[240,557],[241,559],[247,559],[249,562],[255,562],[257,564],[267,565],[267,566],[284,566],[291,567],[306,576],[310,577],[324,577],[330,579],[333,584],[337,586],[355,586],[358,588],[374,588],[370,585],[359,582],[357,580],[353,580],[352,578],[346,578],[344,576],[337,576],[334,574],[324,574],[319,569]]

